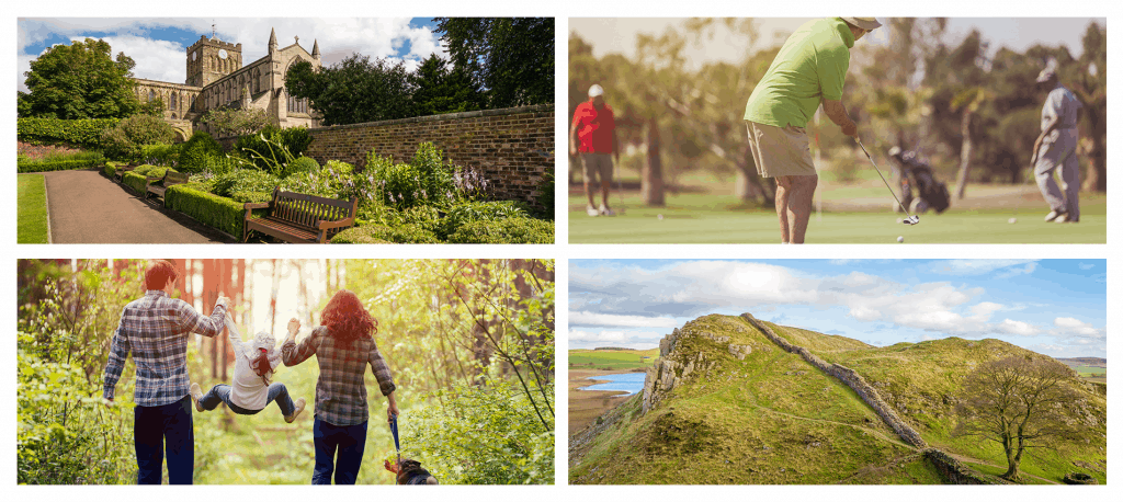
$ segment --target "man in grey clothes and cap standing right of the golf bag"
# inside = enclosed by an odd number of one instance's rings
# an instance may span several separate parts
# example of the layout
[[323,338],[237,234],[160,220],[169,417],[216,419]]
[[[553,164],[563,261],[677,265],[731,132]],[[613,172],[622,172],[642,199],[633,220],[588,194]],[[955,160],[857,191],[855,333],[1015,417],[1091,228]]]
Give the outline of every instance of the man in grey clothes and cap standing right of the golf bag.
[[[1046,221],[1058,223],[1080,221],[1080,164],[1076,156],[1079,135],[1076,130],[1076,110],[1084,104],[1076,94],[1060,84],[1056,66],[1050,64],[1038,75],[1038,84],[1049,90],[1046,104],[1041,108],[1041,135],[1033,142],[1033,175],[1038,180],[1041,195],[1051,211]],[[1053,171],[1060,168],[1065,182],[1061,192],[1053,180]]]

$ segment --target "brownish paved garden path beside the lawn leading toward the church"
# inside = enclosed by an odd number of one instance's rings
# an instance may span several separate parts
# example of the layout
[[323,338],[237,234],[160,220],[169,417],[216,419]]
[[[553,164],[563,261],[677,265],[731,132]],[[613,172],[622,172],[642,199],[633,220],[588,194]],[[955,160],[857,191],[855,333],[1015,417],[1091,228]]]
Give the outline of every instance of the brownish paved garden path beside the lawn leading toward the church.
[[98,170],[43,173],[54,244],[208,244],[230,238],[145,201]]

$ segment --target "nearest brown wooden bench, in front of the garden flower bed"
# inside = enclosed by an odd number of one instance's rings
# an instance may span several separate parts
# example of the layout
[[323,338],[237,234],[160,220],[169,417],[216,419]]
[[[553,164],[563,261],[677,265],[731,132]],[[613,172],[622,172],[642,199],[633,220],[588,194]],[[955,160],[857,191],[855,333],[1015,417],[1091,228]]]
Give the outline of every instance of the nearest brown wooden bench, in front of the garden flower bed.
[[[250,230],[276,237],[286,243],[327,243],[340,230],[355,225],[358,199],[341,201],[305,193],[273,189],[273,200],[245,204],[241,241]],[[252,218],[254,209],[268,209],[262,218]]]

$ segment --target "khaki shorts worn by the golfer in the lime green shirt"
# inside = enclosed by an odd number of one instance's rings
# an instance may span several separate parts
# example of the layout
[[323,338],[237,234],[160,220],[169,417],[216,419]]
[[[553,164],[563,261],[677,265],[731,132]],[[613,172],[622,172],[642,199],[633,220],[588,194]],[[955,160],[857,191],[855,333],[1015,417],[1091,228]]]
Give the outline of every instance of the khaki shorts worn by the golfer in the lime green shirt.
[[802,127],[776,127],[746,120],[749,148],[757,173],[764,177],[813,176],[811,138]]

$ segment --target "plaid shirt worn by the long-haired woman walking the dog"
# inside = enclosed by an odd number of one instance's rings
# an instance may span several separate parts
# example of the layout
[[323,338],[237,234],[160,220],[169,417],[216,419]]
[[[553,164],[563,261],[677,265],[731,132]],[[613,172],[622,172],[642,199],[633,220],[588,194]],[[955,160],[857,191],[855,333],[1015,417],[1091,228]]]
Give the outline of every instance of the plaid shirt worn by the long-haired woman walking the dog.
[[340,343],[327,327],[320,326],[300,345],[289,340],[281,346],[285,366],[295,366],[313,354],[320,363],[320,377],[316,382],[316,417],[332,426],[354,426],[369,418],[364,380],[367,364],[378,381],[382,395],[390,395],[396,389],[374,338],[362,337],[351,343]]

